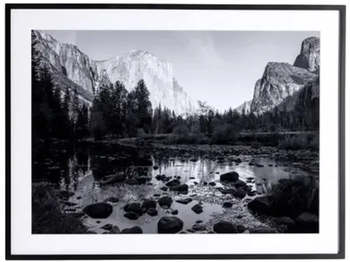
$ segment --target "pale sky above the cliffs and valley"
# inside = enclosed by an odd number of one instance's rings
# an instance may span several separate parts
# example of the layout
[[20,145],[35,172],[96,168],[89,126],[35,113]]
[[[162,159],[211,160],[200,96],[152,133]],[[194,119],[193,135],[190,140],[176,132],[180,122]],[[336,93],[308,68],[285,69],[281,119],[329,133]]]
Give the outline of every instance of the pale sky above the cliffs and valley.
[[144,50],[173,64],[177,82],[195,101],[219,111],[253,98],[268,62],[294,63],[301,42],[317,31],[46,30],[94,60]]

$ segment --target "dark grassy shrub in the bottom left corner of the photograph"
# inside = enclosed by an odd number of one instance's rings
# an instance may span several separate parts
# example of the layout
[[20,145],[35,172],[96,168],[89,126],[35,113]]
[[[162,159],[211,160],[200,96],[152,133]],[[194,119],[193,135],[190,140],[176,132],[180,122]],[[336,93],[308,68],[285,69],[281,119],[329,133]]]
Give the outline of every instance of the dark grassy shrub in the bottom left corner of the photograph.
[[81,214],[62,213],[55,192],[47,183],[32,186],[32,233],[88,233],[80,221]]

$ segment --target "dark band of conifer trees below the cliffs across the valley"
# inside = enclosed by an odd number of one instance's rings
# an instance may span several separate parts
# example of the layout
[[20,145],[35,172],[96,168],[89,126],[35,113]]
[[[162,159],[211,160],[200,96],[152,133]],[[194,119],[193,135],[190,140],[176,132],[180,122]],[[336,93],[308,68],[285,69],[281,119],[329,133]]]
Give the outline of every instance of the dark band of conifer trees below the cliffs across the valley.
[[311,100],[311,88],[297,94],[294,110],[275,108],[256,115],[236,110],[214,111],[198,101],[198,110],[177,115],[159,104],[152,109],[143,79],[131,90],[117,81],[103,82],[92,104],[82,102],[76,88],[54,85],[50,71],[40,63],[32,33],[32,131],[33,138],[83,139],[94,137],[134,137],[143,134],[213,134],[237,132],[283,132],[318,130],[318,100]]

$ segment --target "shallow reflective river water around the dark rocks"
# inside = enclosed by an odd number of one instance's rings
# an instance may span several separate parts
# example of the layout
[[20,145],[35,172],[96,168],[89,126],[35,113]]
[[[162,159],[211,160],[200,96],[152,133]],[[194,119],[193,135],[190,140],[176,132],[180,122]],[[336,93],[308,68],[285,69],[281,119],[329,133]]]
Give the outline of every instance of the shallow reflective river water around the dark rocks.
[[[239,159],[239,161],[237,161]],[[146,166],[145,164],[151,164]],[[240,162],[241,161],[241,162]],[[147,163],[149,162],[149,163]],[[254,165],[252,164],[254,163]],[[154,166],[156,165],[156,168]],[[162,216],[176,214],[183,222],[183,231],[190,229],[196,221],[202,221],[202,230],[209,232],[218,220],[228,220],[242,224],[246,228],[267,226],[266,221],[254,217],[246,208],[246,203],[255,196],[235,199],[231,194],[222,194],[218,189],[227,185],[220,183],[220,175],[236,171],[239,179],[247,182],[256,191],[256,196],[263,195],[271,185],[280,178],[289,178],[295,174],[306,174],[293,165],[275,162],[269,155],[229,155],[211,156],[210,153],[198,155],[182,151],[131,149],[120,146],[97,146],[82,143],[70,148],[63,146],[50,147],[36,154],[33,161],[33,182],[48,181],[57,185],[59,190],[74,193],[69,201],[62,201],[62,210],[67,213],[79,212],[85,206],[106,201],[110,197],[118,198],[113,205],[113,212],[107,219],[82,218],[90,231],[104,233],[106,224],[124,228],[138,225],[144,233],[157,233],[157,223]],[[114,183],[102,185],[101,182],[114,174],[126,174],[128,179],[147,177],[144,184],[131,185]],[[188,194],[180,194],[161,190],[166,182],[157,180],[157,175],[178,177],[181,184],[189,186]],[[207,183],[214,182],[212,185]],[[142,215],[137,220],[124,217],[123,207],[132,202],[142,204],[144,199],[158,200],[163,196],[171,196],[173,204],[169,209],[157,205],[158,215],[151,217]],[[191,197],[193,201],[187,205],[175,200]],[[223,208],[222,204],[230,201],[231,208]],[[191,210],[195,204],[201,204],[203,213],[196,214]],[[190,230],[191,231],[191,230]]]

